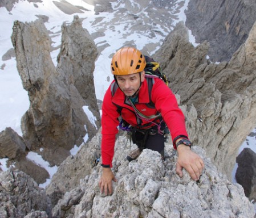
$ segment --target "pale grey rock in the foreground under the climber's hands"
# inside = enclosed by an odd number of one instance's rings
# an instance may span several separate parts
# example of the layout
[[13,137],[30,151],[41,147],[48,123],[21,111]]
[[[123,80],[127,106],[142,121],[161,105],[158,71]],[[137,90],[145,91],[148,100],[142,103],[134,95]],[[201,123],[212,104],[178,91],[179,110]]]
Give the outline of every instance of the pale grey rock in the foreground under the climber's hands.
[[[66,178],[74,175],[80,162],[88,163],[87,158],[97,145],[94,144],[97,140],[92,141],[82,146],[83,156],[74,157],[79,161],[59,169]],[[55,187],[65,187],[66,183],[68,188],[63,189],[63,197],[52,209],[54,217],[254,217],[253,204],[246,198],[243,188],[218,173],[198,146],[193,150],[204,158],[205,170],[200,181],[194,182],[185,170],[183,178],[176,174],[177,153],[172,145],[165,147],[164,162],[159,153],[149,149],[143,150],[137,160],[128,162],[126,142],[125,136],[116,141],[113,172],[117,182],[113,183],[113,194],[100,194],[100,165],[88,166],[86,169],[90,173],[86,176],[78,173],[76,180],[80,179],[80,183],[73,188],[70,188],[69,179],[57,181],[56,177]],[[66,165],[71,163],[66,161]]]

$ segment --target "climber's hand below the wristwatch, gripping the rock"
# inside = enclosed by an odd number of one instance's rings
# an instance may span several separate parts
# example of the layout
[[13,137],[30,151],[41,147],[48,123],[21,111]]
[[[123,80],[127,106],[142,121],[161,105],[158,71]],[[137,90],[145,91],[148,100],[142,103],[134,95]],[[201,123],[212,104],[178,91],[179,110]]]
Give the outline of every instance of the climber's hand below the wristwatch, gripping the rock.
[[188,171],[190,177],[194,181],[198,181],[202,170],[204,169],[204,161],[198,154],[192,152],[189,146],[178,145],[178,160],[176,163],[176,173],[183,177],[182,168]]

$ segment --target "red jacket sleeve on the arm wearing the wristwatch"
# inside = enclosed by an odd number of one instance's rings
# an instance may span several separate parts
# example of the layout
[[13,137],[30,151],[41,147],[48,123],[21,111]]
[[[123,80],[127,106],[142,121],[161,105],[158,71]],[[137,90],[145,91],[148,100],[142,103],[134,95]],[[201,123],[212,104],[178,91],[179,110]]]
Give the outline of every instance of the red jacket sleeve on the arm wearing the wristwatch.
[[173,146],[176,149],[175,141],[181,136],[188,139],[185,117],[178,107],[177,99],[161,79],[155,79],[151,93],[152,101],[156,110],[161,112],[162,118],[167,124],[172,136]]

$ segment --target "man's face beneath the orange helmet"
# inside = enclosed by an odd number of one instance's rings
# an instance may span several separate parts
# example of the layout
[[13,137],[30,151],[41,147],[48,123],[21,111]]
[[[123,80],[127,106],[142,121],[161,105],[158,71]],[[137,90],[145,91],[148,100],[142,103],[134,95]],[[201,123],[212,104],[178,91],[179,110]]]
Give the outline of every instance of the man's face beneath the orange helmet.
[[141,79],[140,73],[133,73],[129,75],[116,76],[117,83],[120,89],[124,92],[124,94],[128,97],[131,97],[136,93],[136,91],[140,87],[140,82],[143,82],[145,79],[145,72],[141,72]]

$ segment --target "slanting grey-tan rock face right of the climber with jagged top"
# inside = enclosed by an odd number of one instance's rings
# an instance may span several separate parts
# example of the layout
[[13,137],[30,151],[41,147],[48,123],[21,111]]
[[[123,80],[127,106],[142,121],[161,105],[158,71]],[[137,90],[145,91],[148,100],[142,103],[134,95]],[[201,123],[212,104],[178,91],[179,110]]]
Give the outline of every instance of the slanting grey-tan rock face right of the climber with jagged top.
[[213,64],[206,60],[209,44],[194,48],[179,23],[155,55],[180,95],[190,139],[229,179],[238,148],[256,125],[255,34],[256,23],[229,62]]

